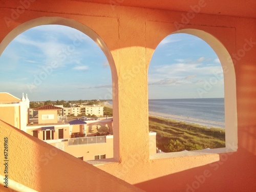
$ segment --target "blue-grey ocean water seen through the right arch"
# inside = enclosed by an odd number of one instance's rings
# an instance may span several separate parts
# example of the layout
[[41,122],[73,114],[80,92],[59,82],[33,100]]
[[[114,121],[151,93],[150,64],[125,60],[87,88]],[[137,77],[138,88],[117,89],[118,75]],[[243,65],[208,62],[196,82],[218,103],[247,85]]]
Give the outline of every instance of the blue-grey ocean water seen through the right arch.
[[224,98],[150,99],[149,111],[225,122]]

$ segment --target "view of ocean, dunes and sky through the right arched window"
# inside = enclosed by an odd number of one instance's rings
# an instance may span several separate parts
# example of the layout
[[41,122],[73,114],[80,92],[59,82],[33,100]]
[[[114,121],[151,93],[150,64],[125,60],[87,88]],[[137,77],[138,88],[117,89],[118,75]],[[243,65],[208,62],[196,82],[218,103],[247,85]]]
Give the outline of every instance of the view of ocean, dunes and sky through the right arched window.
[[200,33],[191,34],[164,38],[148,69],[149,129],[157,133],[157,153],[234,151],[230,141],[237,138],[230,132],[236,128],[225,117],[224,63]]

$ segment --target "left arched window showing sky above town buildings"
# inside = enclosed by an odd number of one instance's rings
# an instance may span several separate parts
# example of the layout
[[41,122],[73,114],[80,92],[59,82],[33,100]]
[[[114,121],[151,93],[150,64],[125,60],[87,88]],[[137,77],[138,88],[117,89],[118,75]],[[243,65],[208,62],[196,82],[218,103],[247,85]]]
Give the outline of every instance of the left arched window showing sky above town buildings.
[[[111,108],[112,105],[112,101],[108,101],[112,100],[112,74],[109,65],[109,60],[112,60],[109,54],[105,54],[108,50],[104,50],[103,41],[92,33],[89,34],[93,39],[77,29],[61,25],[37,26],[19,34],[1,55],[0,89],[16,97],[23,92],[27,93],[30,105],[34,108],[44,104],[59,107],[56,108],[56,114],[51,112],[54,109],[40,112],[44,117],[51,117],[45,122],[47,126],[38,124],[39,113],[38,117],[34,117],[32,113],[25,129],[28,134],[33,135],[36,131],[39,139],[47,142],[52,140],[51,144],[68,153],[69,149],[63,144],[66,141],[58,139],[81,138],[82,140],[68,141],[78,145],[88,144],[89,139],[84,137],[91,137],[89,143],[95,145],[110,142],[112,144],[108,144],[109,148],[105,153],[104,150],[99,153],[104,154],[104,158],[113,158],[113,118],[109,114],[110,110],[106,112],[104,109],[105,106]],[[81,121],[80,124],[72,123],[69,126],[74,118]],[[95,121],[98,120],[101,120],[102,126],[96,129]],[[47,127],[51,128],[51,132]],[[42,131],[43,129],[46,131]],[[58,135],[60,131],[61,138]],[[47,139],[45,132],[51,133]],[[84,147],[77,147],[81,152],[79,157],[83,157],[83,160],[93,160],[98,155],[93,154],[92,148],[88,149],[89,153],[91,151],[89,155],[83,154]]]

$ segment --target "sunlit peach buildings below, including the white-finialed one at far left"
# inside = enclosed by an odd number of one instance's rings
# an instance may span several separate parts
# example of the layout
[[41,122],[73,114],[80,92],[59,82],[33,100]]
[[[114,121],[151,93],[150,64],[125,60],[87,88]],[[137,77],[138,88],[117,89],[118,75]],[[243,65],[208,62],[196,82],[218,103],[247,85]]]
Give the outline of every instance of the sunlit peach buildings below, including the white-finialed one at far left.
[[[37,112],[38,118],[28,119],[27,96],[18,99],[9,93],[0,93],[0,100],[0,119],[29,135],[84,161],[113,158],[113,118],[68,122],[67,116],[60,115],[61,105],[44,105],[30,110],[31,114]],[[150,137],[154,140],[156,134]]]

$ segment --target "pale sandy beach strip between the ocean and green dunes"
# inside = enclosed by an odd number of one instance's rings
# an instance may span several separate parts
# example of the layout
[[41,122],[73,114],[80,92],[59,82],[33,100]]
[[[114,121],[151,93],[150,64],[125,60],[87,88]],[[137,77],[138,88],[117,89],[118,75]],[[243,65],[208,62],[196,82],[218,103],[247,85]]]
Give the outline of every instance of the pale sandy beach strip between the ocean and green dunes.
[[[108,108],[113,108],[113,105],[110,104],[108,101],[102,102],[102,105],[107,106]],[[152,112],[152,111],[148,112],[148,116],[161,117],[161,118],[166,118],[166,119],[173,119],[173,120],[176,120],[176,121],[183,121],[183,122],[186,122],[186,123],[194,123],[194,124],[204,125],[208,128],[216,127],[216,128],[225,129],[225,123],[218,122],[218,121],[196,119],[196,118],[192,118],[192,117],[182,117],[182,116],[178,116],[178,115],[171,115],[171,114]]]

